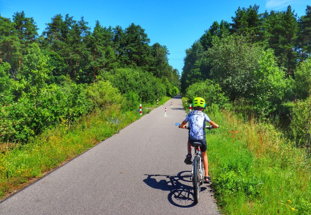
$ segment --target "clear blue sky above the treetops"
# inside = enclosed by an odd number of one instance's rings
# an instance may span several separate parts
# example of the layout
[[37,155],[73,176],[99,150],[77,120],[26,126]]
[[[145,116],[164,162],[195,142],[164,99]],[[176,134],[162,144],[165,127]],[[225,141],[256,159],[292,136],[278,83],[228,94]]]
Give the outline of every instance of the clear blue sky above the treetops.
[[67,13],[75,20],[89,22],[93,29],[95,20],[102,26],[128,27],[132,22],[142,26],[151,39],[150,44],[156,42],[166,45],[169,49],[169,64],[179,72],[183,68],[185,50],[195,40],[198,40],[214,21],[231,21],[231,16],[238,7],[249,7],[257,4],[259,12],[265,10],[284,10],[290,4],[298,16],[305,14],[310,0],[259,0],[259,1],[25,1],[0,0],[1,16],[12,18],[14,12],[24,11],[27,17],[34,17],[40,28],[38,33],[45,29],[56,14],[65,16]]

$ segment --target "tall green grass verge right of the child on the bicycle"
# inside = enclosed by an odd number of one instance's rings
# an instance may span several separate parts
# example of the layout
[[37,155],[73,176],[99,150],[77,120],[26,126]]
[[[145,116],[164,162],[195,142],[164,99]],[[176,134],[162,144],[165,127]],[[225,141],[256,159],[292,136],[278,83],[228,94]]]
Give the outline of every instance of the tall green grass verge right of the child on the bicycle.
[[220,125],[207,131],[207,154],[222,213],[311,214],[311,161],[304,150],[271,124],[228,111],[208,116]]

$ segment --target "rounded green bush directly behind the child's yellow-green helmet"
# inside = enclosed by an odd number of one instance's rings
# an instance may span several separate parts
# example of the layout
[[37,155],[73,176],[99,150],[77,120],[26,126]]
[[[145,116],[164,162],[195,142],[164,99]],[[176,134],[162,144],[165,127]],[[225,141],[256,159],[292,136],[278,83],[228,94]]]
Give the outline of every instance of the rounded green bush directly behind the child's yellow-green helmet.
[[219,84],[215,84],[209,79],[206,79],[205,82],[197,82],[190,85],[187,88],[185,96],[189,98],[188,102],[192,102],[192,100],[197,96],[204,98],[207,109],[209,109],[213,104],[224,107],[229,100],[222,92]]

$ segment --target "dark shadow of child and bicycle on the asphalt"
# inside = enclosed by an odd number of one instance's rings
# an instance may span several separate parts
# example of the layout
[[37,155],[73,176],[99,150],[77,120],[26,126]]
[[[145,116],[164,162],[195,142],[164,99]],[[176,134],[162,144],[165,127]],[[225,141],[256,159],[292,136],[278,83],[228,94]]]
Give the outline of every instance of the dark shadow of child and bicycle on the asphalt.
[[[174,206],[190,208],[196,205],[193,200],[193,187],[184,184],[192,182],[190,173],[190,171],[182,171],[177,175],[148,175],[143,181],[154,189],[170,191],[168,200]],[[206,187],[201,187],[201,191],[206,189]]]

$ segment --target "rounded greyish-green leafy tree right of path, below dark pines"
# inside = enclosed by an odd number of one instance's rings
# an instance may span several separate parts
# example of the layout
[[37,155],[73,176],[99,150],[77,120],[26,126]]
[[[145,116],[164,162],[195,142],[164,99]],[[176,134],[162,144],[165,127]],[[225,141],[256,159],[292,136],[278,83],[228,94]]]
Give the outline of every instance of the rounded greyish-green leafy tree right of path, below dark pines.
[[262,47],[250,43],[247,38],[231,35],[214,40],[208,53],[212,79],[230,95],[231,100],[240,96],[253,96],[254,71],[258,69]]

